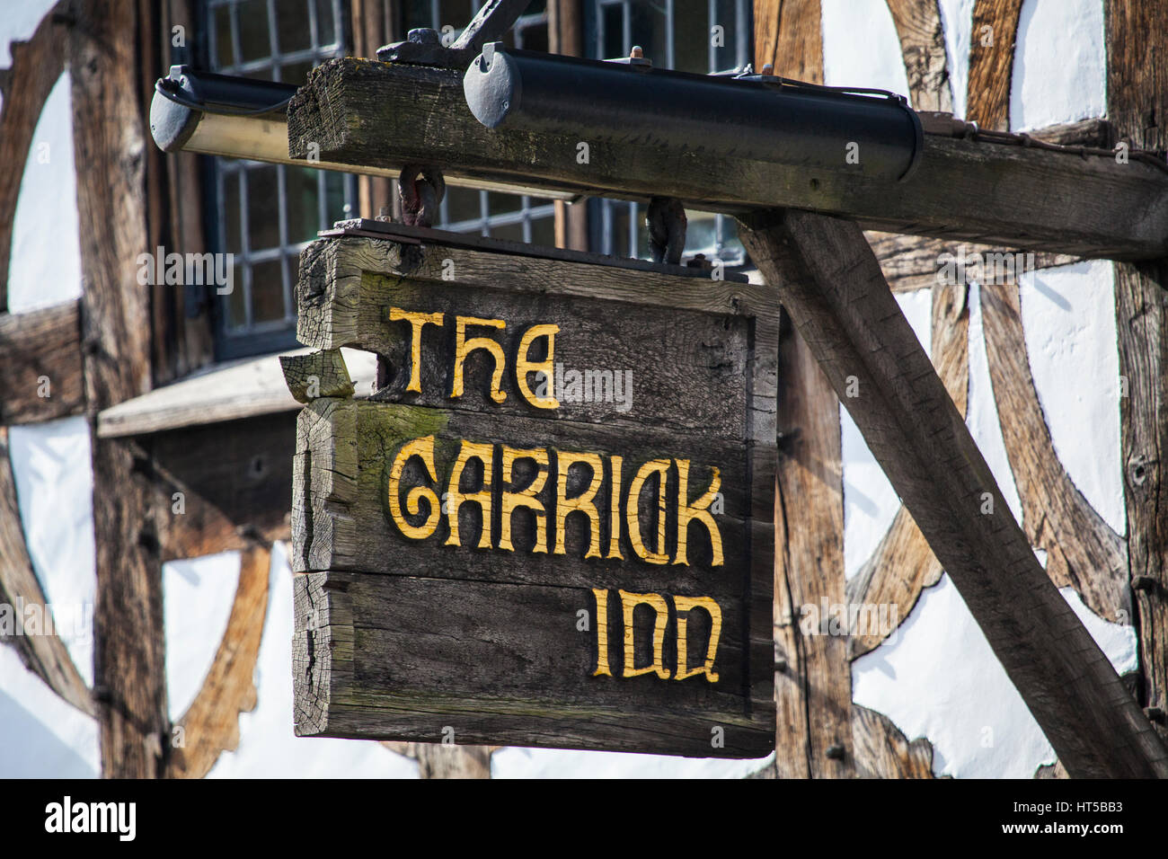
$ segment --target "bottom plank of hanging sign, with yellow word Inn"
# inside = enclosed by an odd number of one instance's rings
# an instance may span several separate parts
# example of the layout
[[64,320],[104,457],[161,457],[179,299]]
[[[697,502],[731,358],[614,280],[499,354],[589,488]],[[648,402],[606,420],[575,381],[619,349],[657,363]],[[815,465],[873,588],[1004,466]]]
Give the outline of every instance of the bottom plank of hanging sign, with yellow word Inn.
[[[596,629],[577,630],[577,612],[596,609],[589,589],[339,571],[300,574],[294,583],[300,736],[449,737],[698,757],[760,757],[772,748],[764,714],[741,692],[714,691],[724,680],[593,677]],[[619,608],[609,609],[616,622]],[[708,638],[700,615],[691,612],[688,631],[691,659]],[[516,617],[523,623],[516,625]],[[742,621],[723,615],[723,642]],[[637,623],[638,658],[649,661],[640,644],[652,638],[651,615]],[[667,628],[665,640],[675,636]],[[613,653],[613,664],[624,659],[616,646]],[[731,671],[735,661],[728,650],[725,663],[716,664]],[[561,680],[551,686],[549,678]],[[536,679],[541,692],[533,697]],[[649,692],[656,706],[646,713]],[[711,743],[717,735],[724,747]]]

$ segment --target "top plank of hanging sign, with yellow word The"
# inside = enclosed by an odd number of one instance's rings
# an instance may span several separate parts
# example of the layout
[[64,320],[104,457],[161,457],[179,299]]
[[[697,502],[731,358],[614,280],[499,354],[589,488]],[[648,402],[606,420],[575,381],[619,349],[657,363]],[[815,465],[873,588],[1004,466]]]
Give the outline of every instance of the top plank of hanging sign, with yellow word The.
[[[489,406],[630,429],[652,418],[676,432],[735,441],[746,430],[741,382],[748,346],[752,334],[763,348],[767,338],[764,326],[752,332],[746,317],[731,316],[762,304],[744,300],[758,296],[749,284],[715,290],[724,282],[665,276],[644,283],[641,272],[620,269],[353,237],[308,245],[301,271],[301,342],[378,353],[387,383],[374,400],[471,411]],[[659,284],[669,291],[658,292],[653,306],[624,304],[614,312],[613,298],[644,300]],[[583,297],[591,286],[597,289]],[[425,316],[411,316],[417,313]],[[460,334],[459,318],[480,321]],[[460,365],[460,335],[496,342],[502,359],[479,348]],[[645,344],[654,344],[656,360],[644,360]],[[500,360],[506,372],[495,381]],[[522,374],[521,360],[528,366]],[[773,359],[765,361],[773,367]],[[773,386],[773,370],[755,370],[759,385]],[[533,397],[558,407],[536,406]],[[773,442],[773,429],[756,430],[755,437]]]

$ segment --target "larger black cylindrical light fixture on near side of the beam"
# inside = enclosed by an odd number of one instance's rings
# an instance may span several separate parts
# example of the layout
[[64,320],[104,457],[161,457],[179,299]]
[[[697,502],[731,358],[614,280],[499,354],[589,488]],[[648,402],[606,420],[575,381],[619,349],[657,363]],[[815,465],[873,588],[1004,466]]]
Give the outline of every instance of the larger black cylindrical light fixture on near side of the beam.
[[904,179],[924,147],[901,96],[773,76],[691,75],[488,44],[463,78],[488,129],[724,153]]

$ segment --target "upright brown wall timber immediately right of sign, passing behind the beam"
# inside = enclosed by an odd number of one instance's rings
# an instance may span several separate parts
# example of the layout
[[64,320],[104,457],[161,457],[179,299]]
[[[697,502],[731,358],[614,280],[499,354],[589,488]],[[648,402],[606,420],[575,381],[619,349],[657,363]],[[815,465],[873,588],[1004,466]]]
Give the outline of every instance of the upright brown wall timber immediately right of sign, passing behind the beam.
[[[819,0],[755,4],[755,65],[822,83]],[[840,401],[802,339],[784,319],[777,411],[774,521],[774,774],[851,777],[856,757],[847,639],[804,636],[802,607],[843,595],[843,464]],[[841,647],[841,644],[844,645]],[[840,747],[842,755],[828,757]]]

